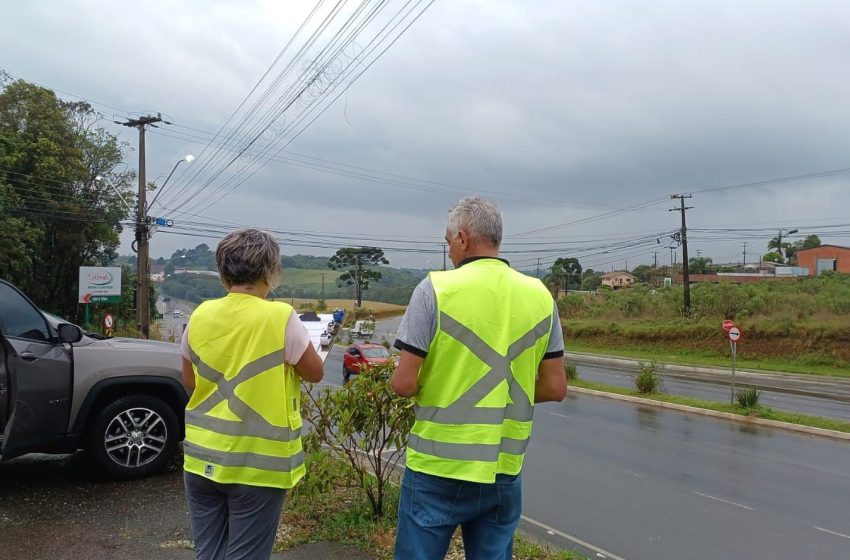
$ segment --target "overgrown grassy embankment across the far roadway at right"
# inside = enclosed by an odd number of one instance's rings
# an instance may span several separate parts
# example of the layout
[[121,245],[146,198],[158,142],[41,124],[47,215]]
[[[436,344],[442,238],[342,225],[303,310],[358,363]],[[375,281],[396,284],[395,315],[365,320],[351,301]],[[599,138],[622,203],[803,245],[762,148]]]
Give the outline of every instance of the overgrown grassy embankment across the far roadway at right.
[[568,350],[659,362],[728,366],[721,329],[743,331],[743,368],[850,376],[850,275],[759,284],[697,284],[692,314],[681,287],[637,287],[559,299]]

